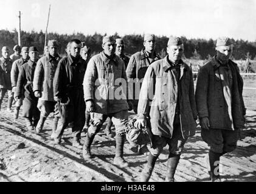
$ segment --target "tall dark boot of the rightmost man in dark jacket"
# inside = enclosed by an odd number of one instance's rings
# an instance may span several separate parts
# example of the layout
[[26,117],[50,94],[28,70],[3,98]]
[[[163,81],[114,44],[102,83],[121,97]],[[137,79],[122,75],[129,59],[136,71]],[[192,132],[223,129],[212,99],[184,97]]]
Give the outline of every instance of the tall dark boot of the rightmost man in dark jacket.
[[212,182],[220,181],[220,156],[220,153],[212,152],[212,150],[209,152],[210,176]]

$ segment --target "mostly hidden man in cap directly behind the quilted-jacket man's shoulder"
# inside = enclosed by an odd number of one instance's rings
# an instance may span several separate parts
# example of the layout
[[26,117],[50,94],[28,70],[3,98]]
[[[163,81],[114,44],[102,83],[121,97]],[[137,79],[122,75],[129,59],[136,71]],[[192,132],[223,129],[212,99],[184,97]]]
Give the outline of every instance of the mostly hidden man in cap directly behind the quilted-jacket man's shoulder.
[[[125,51],[125,42],[123,41],[122,38],[117,38],[116,39],[116,55],[123,60],[123,62],[125,63],[125,70],[126,70],[130,58],[128,58],[128,56],[125,56],[124,51]],[[106,122],[107,124],[105,128],[105,133],[107,136],[112,138],[113,135],[111,132],[111,127],[113,125],[113,122],[111,121],[111,118],[106,119]]]

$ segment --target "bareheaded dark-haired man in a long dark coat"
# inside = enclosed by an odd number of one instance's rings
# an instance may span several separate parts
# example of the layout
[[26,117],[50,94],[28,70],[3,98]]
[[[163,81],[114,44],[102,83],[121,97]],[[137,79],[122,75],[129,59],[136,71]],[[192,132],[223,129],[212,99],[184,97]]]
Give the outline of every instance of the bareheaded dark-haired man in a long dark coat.
[[85,101],[83,99],[83,77],[86,62],[80,56],[81,41],[72,39],[70,55],[58,63],[54,76],[54,98],[58,101],[60,119],[54,133],[55,143],[60,144],[64,129],[72,125],[72,146],[81,149],[81,130],[85,125]]

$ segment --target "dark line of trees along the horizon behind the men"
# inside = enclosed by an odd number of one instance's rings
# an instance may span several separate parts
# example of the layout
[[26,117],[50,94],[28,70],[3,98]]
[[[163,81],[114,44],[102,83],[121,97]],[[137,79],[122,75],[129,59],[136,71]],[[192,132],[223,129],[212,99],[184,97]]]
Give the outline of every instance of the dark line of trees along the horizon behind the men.
[[[60,44],[59,53],[64,55],[67,42],[71,39],[80,39],[86,42],[86,45],[91,47],[92,55],[102,51],[102,37],[100,33],[94,33],[94,35],[84,35],[83,33],[73,33],[72,35],[58,34],[58,33],[48,33],[47,39],[57,39]],[[121,38],[118,33],[115,33],[114,38]],[[43,31],[35,32],[24,32],[21,31],[21,44],[22,46],[35,45],[40,54],[43,54],[44,50],[44,38],[45,34]],[[128,56],[133,55],[133,53],[141,50],[143,46],[144,35],[125,35],[122,37],[126,44],[125,53]],[[209,59],[215,55],[215,42],[213,39],[187,39],[185,36],[181,37],[184,41],[184,57],[187,59]],[[256,59],[256,42],[248,42],[243,39],[235,40],[233,59]],[[156,52],[164,57],[166,53],[166,45],[168,42],[167,36],[156,36]],[[8,46],[10,49],[13,48],[15,44],[18,44],[18,32],[13,30],[0,30],[0,47]]]

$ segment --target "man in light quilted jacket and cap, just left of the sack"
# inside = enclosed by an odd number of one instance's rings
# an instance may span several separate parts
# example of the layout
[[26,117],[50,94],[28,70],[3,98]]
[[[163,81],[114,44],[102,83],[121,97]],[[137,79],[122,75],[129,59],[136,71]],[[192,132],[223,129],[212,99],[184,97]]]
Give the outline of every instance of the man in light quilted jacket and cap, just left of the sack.
[[[128,166],[123,159],[125,142],[125,122],[128,119],[128,103],[126,99],[125,64],[115,55],[116,43],[112,36],[103,37],[103,52],[93,56],[86,70],[83,81],[86,108],[91,112],[92,124],[86,133],[83,146],[84,159],[91,158],[91,144],[106,118],[111,117],[116,126],[116,156],[114,164]],[[121,85],[120,81],[123,81]],[[123,90],[122,96],[117,91]]]

